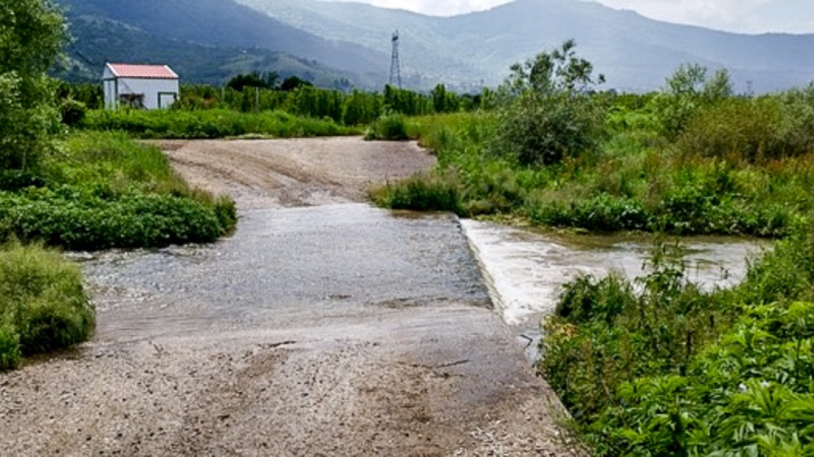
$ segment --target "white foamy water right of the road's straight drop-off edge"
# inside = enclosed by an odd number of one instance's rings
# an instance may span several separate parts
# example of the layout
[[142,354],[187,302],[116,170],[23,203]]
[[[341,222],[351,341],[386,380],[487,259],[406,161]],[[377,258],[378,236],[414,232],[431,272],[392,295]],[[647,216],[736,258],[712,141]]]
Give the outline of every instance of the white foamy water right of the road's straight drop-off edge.
[[[584,274],[644,276],[653,248],[650,236],[558,235],[474,220],[462,225],[497,312],[517,330],[532,359],[540,320],[554,311],[563,284]],[[679,246],[689,280],[711,289],[741,281],[747,259],[770,245],[741,238],[689,237]]]

